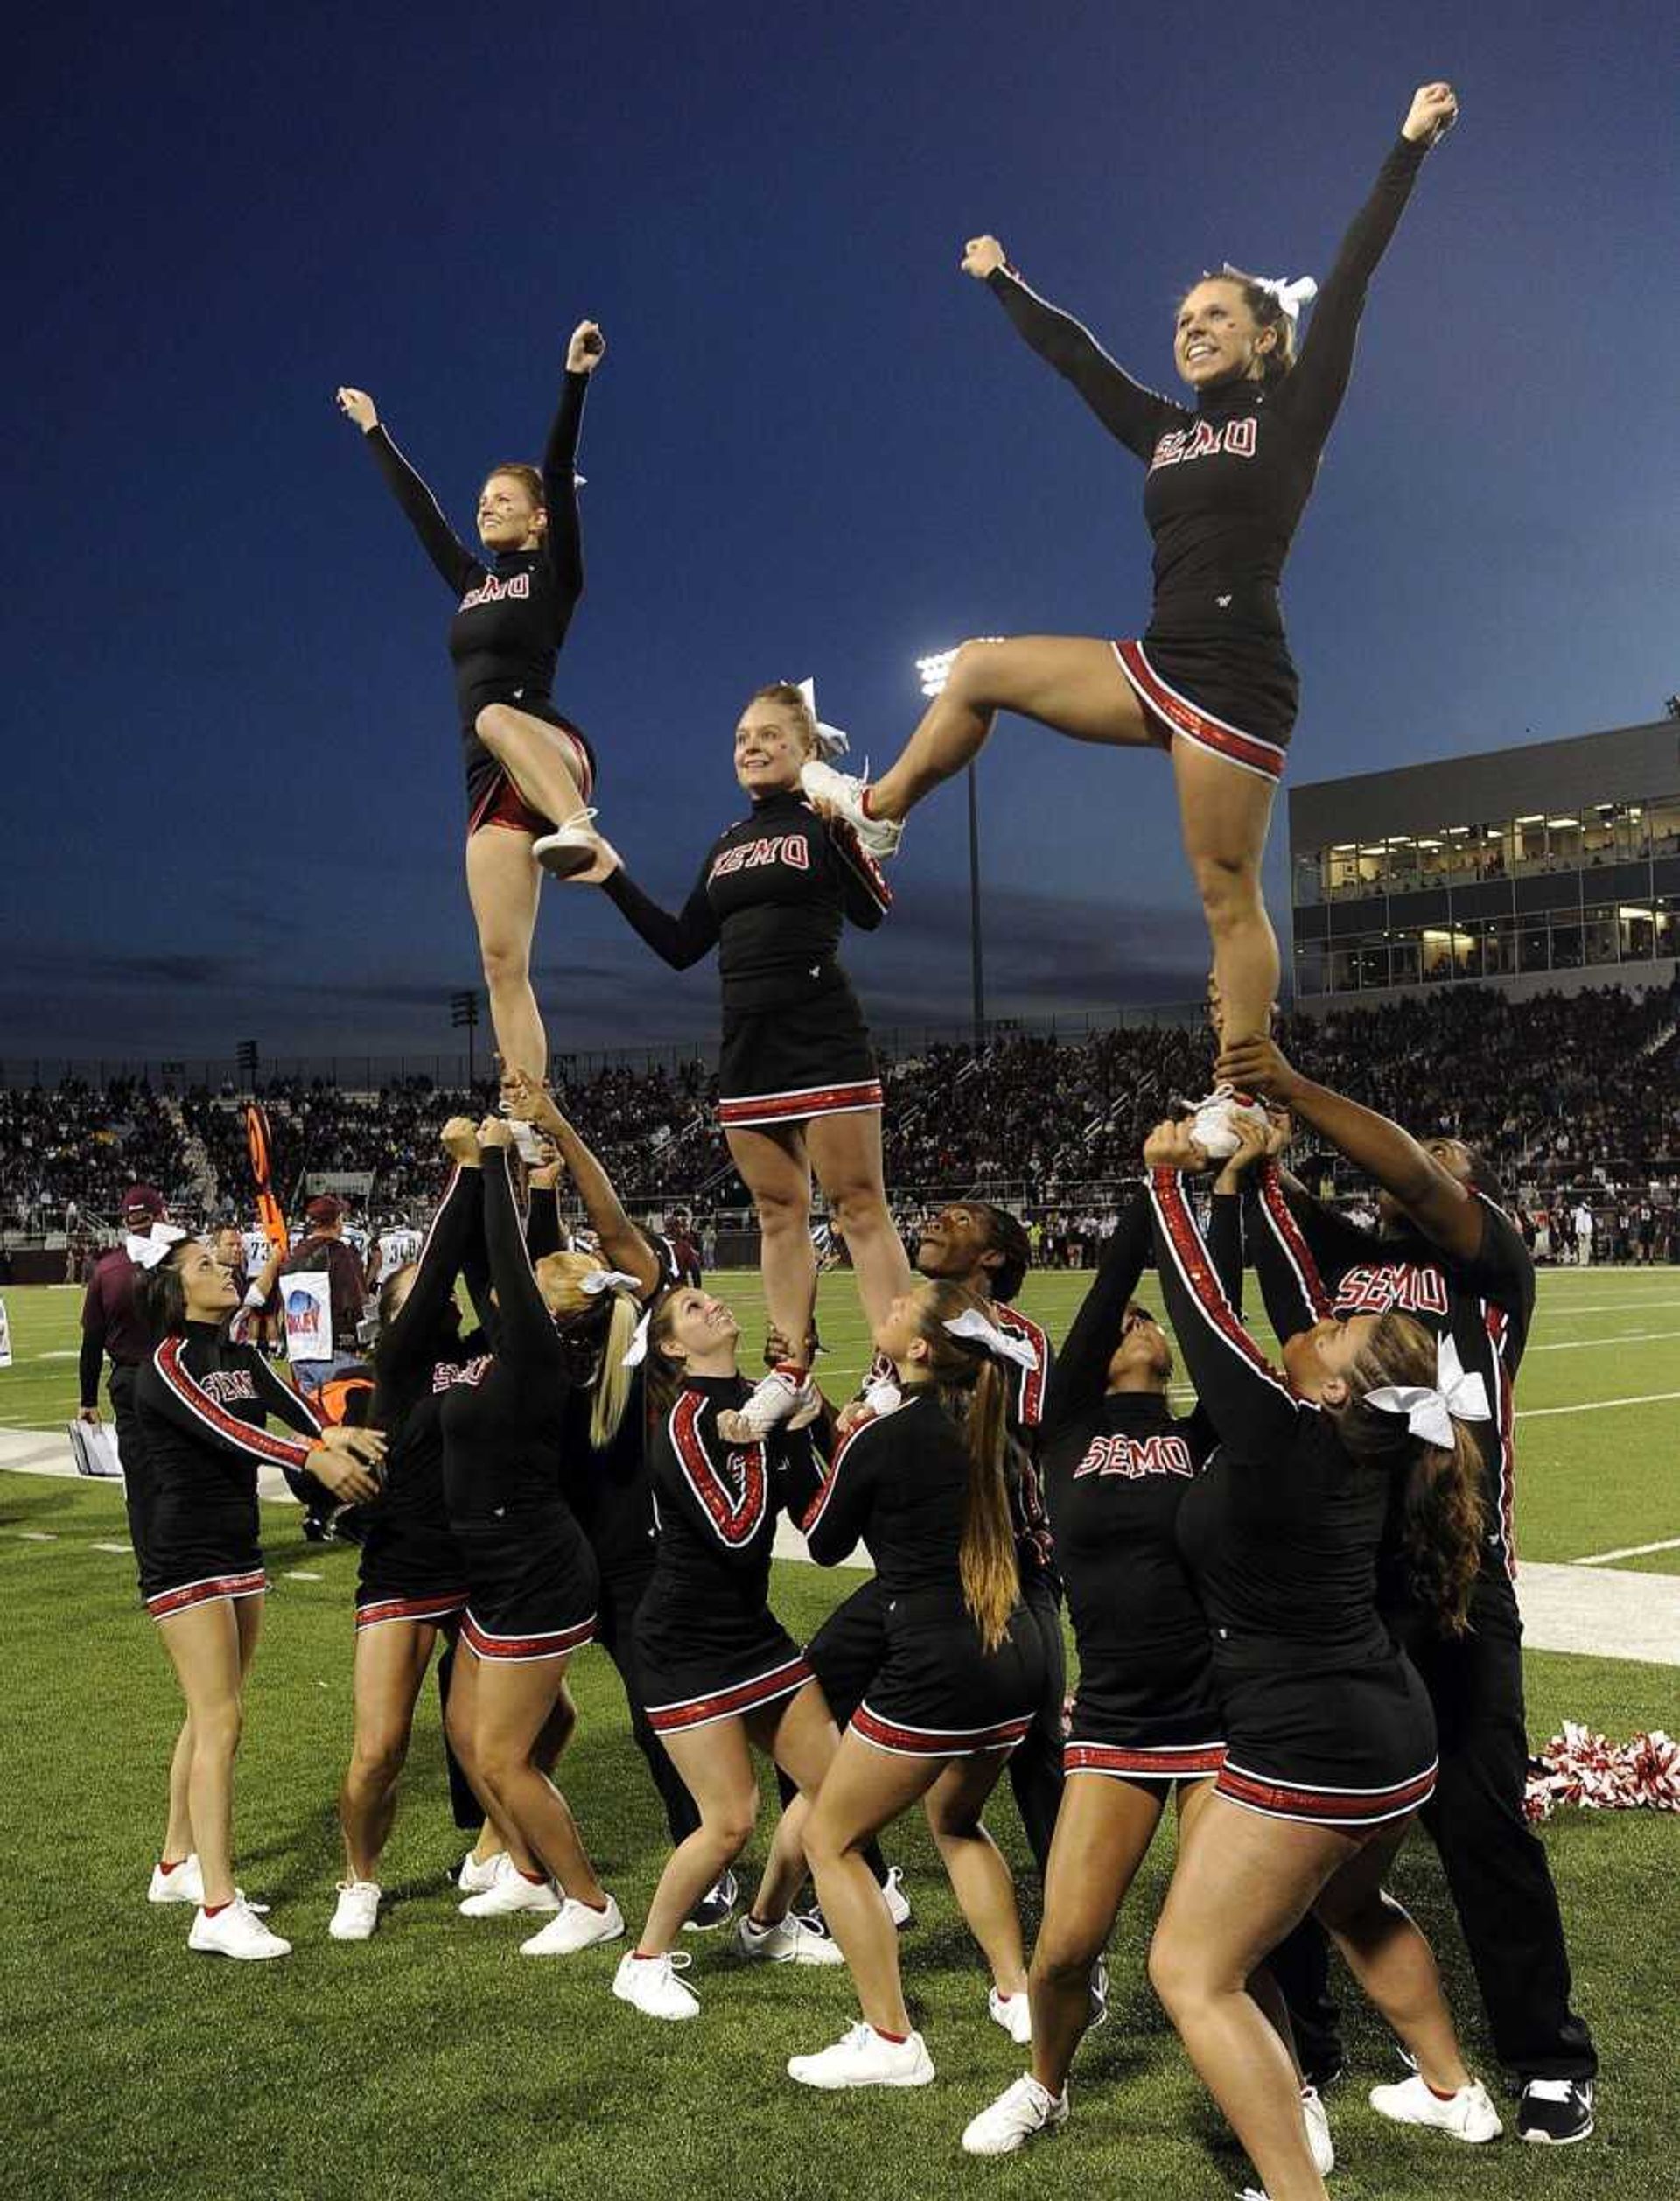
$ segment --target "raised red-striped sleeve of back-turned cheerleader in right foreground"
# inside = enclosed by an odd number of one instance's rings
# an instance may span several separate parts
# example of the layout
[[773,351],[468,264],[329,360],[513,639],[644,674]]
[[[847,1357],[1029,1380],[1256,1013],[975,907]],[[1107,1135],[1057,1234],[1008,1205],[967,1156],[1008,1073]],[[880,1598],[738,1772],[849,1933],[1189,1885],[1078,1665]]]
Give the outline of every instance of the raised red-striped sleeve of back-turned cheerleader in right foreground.
[[1226,1299],[1178,1169],[1152,1169],[1149,1206],[1160,1290],[1196,1398],[1233,1457],[1266,1461],[1295,1437],[1306,1409]]

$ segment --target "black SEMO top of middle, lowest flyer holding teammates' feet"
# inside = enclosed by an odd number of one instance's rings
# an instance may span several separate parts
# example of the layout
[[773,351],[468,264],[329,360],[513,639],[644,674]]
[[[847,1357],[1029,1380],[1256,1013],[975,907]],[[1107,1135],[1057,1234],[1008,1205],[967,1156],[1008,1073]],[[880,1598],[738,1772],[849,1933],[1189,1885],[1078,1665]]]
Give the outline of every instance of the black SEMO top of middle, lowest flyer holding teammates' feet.
[[819,819],[797,788],[755,799],[749,817],[718,834],[676,916],[625,869],[603,885],[674,971],[718,949],[724,1015],[784,1008],[846,984],[846,920],[874,931],[892,909],[892,889],[852,830]]

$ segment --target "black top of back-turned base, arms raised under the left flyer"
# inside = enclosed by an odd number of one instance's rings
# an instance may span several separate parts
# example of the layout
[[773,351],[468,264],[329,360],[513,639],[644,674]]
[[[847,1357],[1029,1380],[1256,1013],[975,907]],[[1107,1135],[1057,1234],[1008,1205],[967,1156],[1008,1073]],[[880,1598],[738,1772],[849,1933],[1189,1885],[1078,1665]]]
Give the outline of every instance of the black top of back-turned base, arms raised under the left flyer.
[[559,1455],[577,1354],[537,1285],[513,1202],[506,1149],[487,1147],[484,1246],[495,1285],[495,1351],[443,1395],[443,1486],[451,1521],[561,1505]]

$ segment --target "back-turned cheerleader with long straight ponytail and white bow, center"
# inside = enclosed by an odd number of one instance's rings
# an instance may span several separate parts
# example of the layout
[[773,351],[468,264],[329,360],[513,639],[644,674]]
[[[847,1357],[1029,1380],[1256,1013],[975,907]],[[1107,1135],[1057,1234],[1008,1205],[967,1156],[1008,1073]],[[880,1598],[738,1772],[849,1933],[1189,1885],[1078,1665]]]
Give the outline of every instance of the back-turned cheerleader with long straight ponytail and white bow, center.
[[806,1516],[819,1565],[868,1543],[887,1600],[885,1660],[806,1822],[823,1917],[863,2005],[863,2023],[834,2047],[788,2062],[790,2078],[821,2089],[934,2078],[905,2007],[898,1937],[863,1862],[863,1844],[923,1798],[991,1965],[993,2001],[1026,1990],[1015,1886],[980,1814],[1044,1684],[1044,1651],[1019,1602],[997,1367],[1030,1347],[949,1283],[898,1294],[874,1343],[894,1365],[901,1404],[852,1431]]

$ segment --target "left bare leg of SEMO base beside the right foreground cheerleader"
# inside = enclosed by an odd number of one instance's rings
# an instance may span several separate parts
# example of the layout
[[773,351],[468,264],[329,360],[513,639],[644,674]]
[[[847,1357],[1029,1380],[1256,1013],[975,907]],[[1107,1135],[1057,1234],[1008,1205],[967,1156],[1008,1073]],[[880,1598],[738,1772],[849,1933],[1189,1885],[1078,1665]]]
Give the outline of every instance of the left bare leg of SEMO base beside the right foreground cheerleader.
[[1108,1948],[1165,1803],[1165,1787],[1103,1774],[1074,1774],[1061,1792],[1030,1972],[1033,2078],[1050,2093],[1068,2084],[1090,2023],[1090,1968]]

